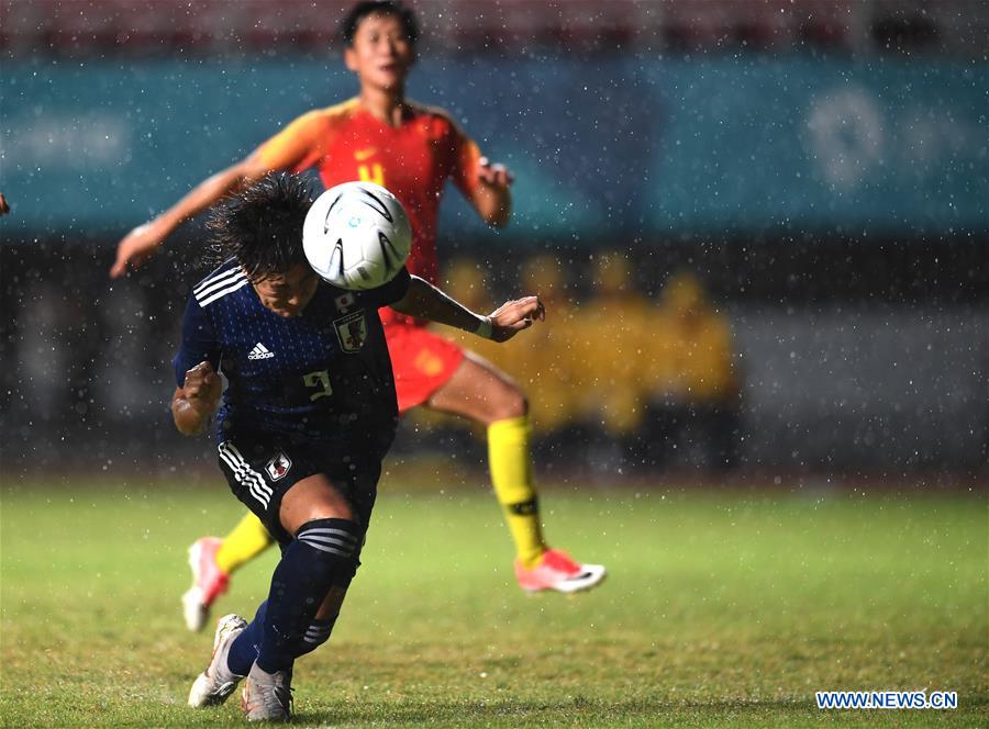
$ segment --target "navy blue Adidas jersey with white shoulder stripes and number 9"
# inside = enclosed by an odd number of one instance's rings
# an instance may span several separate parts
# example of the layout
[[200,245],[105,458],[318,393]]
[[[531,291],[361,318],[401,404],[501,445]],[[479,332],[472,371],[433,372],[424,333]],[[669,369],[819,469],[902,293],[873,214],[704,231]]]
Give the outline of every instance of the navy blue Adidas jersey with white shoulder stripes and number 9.
[[404,296],[409,281],[404,269],[370,291],[320,281],[302,313],[284,317],[227,261],[189,296],[176,383],[202,361],[226,378],[219,442],[302,442],[327,456],[380,460],[395,439],[398,405],[378,307]]

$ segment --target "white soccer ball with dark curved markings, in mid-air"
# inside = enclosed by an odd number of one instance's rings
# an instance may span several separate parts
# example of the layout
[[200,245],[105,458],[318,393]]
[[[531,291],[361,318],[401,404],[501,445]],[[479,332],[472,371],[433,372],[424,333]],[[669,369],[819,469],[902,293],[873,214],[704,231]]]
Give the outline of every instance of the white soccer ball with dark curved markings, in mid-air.
[[395,278],[412,247],[398,199],[380,184],[344,182],[312,203],[302,248],[313,270],[341,289],[375,289]]

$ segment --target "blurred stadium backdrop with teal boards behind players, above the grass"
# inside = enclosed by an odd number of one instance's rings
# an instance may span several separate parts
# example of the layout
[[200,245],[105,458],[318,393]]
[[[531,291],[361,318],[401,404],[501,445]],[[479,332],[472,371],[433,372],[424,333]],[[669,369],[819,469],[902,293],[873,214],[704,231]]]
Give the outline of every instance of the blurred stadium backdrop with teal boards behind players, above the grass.
[[[212,468],[167,410],[201,224],[107,270],[131,227],[356,90],[348,4],[0,2],[4,478]],[[441,258],[477,305],[549,302],[481,347],[526,383],[541,469],[985,484],[984,2],[413,5],[410,96],[516,173],[500,233],[449,191]],[[400,452],[482,463],[413,425]]]

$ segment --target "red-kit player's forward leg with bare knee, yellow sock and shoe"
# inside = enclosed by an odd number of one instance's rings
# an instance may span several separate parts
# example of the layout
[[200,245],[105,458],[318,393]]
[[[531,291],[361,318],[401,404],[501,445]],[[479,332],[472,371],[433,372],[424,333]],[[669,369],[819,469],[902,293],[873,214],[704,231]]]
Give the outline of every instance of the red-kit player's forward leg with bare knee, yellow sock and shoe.
[[549,549],[543,539],[530,461],[529,405],[519,385],[493,365],[466,352],[426,405],[487,427],[491,482],[515,542],[520,586],[530,592],[571,593],[599,584],[603,567],[575,562],[565,552]]

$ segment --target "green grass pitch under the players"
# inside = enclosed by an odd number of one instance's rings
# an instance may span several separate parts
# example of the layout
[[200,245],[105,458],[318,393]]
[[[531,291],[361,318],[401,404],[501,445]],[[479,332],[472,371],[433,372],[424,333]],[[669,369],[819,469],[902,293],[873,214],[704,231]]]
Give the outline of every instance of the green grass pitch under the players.
[[[989,725],[982,496],[547,490],[598,591],[513,586],[478,486],[382,487],[336,632],[296,671],[300,726]],[[9,727],[241,726],[185,706],[185,548],[240,516],[219,479],[2,491]],[[253,614],[275,554],[219,613]],[[957,691],[952,711],[821,711],[815,689]]]

